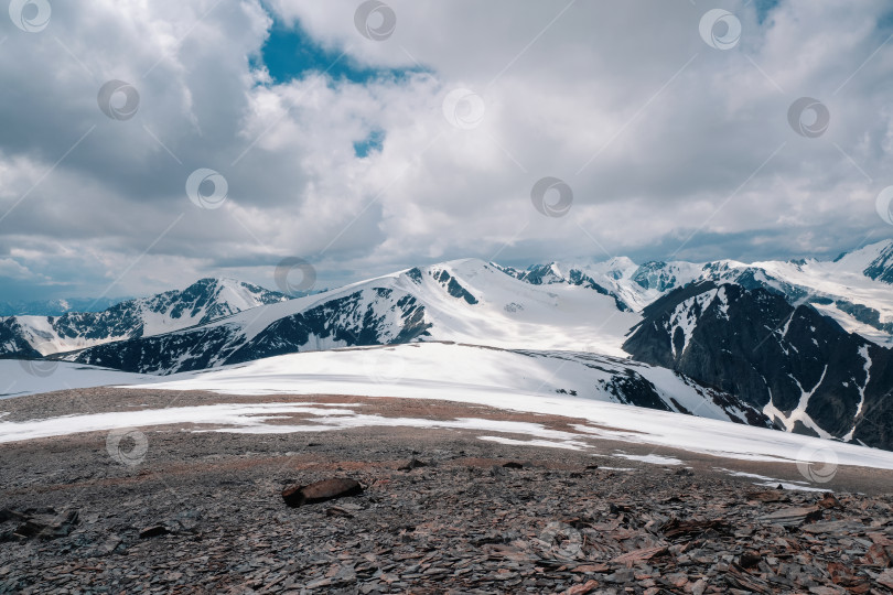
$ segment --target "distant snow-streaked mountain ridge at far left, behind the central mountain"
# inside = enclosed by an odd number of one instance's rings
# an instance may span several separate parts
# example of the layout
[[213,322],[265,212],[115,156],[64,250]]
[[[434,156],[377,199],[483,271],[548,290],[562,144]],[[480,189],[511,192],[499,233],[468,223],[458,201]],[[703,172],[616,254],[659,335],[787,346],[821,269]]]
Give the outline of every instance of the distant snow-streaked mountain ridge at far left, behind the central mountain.
[[182,291],[128,300],[103,312],[2,317],[0,357],[40,357],[159,335],[286,300],[233,279],[202,279]]

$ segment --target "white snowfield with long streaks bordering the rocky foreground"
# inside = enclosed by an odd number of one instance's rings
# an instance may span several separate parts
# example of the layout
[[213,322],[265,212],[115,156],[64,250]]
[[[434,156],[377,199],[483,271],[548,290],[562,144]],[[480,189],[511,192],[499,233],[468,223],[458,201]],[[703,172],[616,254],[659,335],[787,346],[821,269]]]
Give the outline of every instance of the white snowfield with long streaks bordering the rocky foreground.
[[[585,366],[585,354],[567,358],[450,344],[410,344],[279,356],[220,369],[147,377],[61,364],[46,378],[22,387],[66,388],[126,382],[127,388],[206,390],[226,394],[345,394],[449,400],[512,411],[566,415],[579,420],[575,432],[556,432],[539,424],[461,419],[452,422],[364,415],[355,404],[319,407],[308,403],[208,404],[162,410],[68,415],[25,422],[2,422],[0,442],[30,440],[114,428],[187,422],[197,430],[213,426],[237,432],[306,432],[363,425],[411,425],[472,429],[487,433],[529,435],[557,447],[580,447],[591,439],[680,448],[720,457],[766,462],[827,462],[893,469],[893,452],[611,402],[593,389],[598,376]],[[581,359],[581,357],[583,359]],[[594,356],[592,356],[594,357]],[[25,375],[17,361],[0,370]],[[600,365],[603,365],[604,360]],[[625,363],[630,364],[630,363]],[[698,407],[697,392],[668,370],[637,365],[663,390],[671,390],[687,407]],[[595,370],[598,371],[598,370]],[[590,376],[591,375],[591,376]],[[663,376],[659,376],[663,375]],[[674,378],[677,385],[674,387]],[[577,390],[578,396],[556,390]],[[702,414],[712,407],[700,399]],[[290,413],[312,415],[312,423],[268,424]],[[281,420],[279,420],[281,422]],[[487,440],[493,440],[487,439]],[[503,437],[501,437],[503,440]],[[507,439],[513,440],[513,439]],[[546,445],[541,442],[530,444]]]

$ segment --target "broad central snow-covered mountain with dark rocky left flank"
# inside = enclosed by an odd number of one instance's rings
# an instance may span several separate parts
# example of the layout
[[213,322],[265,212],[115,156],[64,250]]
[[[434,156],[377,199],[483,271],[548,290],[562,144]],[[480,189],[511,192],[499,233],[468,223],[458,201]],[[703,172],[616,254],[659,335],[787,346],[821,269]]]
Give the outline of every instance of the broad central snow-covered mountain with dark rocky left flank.
[[573,349],[623,357],[639,321],[585,285],[534,285],[467,259],[245,311],[159,336],[95,346],[65,359],[172,374],[275,355],[410,340]]

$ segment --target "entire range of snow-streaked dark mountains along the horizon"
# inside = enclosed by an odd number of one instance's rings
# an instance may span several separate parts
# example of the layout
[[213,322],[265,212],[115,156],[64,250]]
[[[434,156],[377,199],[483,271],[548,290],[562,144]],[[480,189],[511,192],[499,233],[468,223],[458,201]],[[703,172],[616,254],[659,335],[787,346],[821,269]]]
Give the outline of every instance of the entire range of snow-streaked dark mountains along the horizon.
[[552,363],[573,376],[544,381],[559,393],[893,448],[891,283],[893,241],[833,261],[465,259],[292,300],[204,279],[100,313],[0,318],[0,357],[170,375],[438,342]]

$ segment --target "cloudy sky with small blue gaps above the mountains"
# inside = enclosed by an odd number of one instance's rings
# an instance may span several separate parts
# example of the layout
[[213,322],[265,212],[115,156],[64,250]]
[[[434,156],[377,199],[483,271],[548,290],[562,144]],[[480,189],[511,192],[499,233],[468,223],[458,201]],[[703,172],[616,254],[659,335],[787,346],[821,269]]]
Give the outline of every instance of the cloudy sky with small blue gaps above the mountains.
[[0,301],[836,255],[893,236],[891,35],[889,0],[12,0]]

